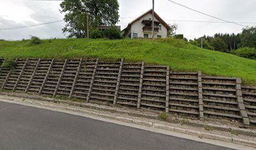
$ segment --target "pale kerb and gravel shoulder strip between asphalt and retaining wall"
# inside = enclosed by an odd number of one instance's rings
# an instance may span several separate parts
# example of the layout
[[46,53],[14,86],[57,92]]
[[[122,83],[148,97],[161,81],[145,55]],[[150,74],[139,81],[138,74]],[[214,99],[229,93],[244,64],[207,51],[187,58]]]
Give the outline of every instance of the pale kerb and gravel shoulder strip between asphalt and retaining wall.
[[240,134],[216,131],[186,124],[167,123],[157,119],[132,116],[129,113],[118,113],[102,109],[83,108],[70,104],[53,103],[48,101],[38,101],[35,99],[15,98],[11,96],[0,96],[0,101],[6,103],[20,104],[33,108],[47,109],[61,113],[83,116],[109,123],[120,124],[137,129],[144,129],[154,133],[166,134],[178,138],[191,139],[202,143],[214,144],[232,149],[255,149],[255,136],[245,136]]

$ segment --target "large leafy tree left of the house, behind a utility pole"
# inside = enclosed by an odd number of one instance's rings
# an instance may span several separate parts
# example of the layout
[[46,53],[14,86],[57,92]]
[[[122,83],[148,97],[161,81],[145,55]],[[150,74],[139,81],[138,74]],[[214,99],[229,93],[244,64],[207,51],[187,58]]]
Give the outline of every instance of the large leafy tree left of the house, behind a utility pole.
[[100,25],[115,25],[119,19],[119,3],[117,0],[64,0],[60,4],[61,12],[65,12],[67,22],[63,32],[68,37],[84,37],[86,16],[90,16],[90,29]]

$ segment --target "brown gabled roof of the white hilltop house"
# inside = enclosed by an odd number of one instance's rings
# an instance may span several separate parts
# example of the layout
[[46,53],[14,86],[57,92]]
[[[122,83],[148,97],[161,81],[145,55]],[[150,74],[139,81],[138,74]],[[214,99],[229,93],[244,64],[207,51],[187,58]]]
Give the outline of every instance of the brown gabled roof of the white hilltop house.
[[[145,13],[142,14],[141,16],[137,17],[134,21],[130,22],[130,23],[128,24],[128,26],[127,26],[125,29],[122,30],[122,32],[123,32],[123,31],[124,31],[124,32],[127,32],[127,31],[130,29],[130,27],[132,26],[132,24],[134,24],[134,22],[139,21],[139,19],[141,19],[142,17],[146,16],[146,15],[149,14],[149,13],[152,14],[152,12],[153,12],[153,10],[150,9],[149,11],[145,12]],[[166,27],[167,30],[170,30],[170,29],[171,29],[171,27],[170,27],[160,16],[158,16],[158,14],[157,14],[155,11],[154,11],[154,17],[156,17],[156,19],[157,19],[159,22],[161,22],[161,24],[163,24],[163,26]]]

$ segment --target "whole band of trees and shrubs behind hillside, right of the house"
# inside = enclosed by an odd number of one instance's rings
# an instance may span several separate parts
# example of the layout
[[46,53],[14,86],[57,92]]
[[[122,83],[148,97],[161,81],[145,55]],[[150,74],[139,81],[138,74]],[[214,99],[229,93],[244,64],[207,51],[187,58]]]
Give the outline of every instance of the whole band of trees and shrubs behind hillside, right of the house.
[[[256,26],[244,28],[242,33],[238,34],[216,33],[214,36],[203,36],[203,39],[203,48],[205,49],[232,53],[243,58],[255,59]],[[189,40],[189,42],[190,44],[201,47],[201,37]],[[208,44],[210,44],[211,47],[209,47]]]

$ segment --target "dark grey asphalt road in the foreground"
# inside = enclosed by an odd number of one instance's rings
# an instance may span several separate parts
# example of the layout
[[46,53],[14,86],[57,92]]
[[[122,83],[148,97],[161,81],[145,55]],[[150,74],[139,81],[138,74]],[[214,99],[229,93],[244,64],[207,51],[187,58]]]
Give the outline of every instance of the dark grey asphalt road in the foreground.
[[227,149],[90,118],[0,102],[0,149]]

